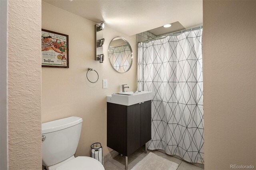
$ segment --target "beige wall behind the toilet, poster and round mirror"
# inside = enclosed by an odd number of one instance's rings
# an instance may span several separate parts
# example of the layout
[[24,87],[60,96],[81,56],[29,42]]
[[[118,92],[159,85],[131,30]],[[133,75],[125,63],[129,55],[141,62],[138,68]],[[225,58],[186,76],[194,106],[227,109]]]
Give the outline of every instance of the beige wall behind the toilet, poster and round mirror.
[[[42,28],[69,36],[69,68],[42,68],[42,122],[70,116],[83,119],[82,132],[76,156],[89,156],[90,145],[101,142],[103,154],[106,146],[106,96],[122,91],[136,90],[136,56],[132,68],[126,73],[112,69],[108,61],[108,44],[112,38],[122,36],[130,42],[136,55],[136,36],[126,36],[104,28],[103,63],[94,61],[94,25],[96,23],[42,2]],[[97,83],[86,79],[88,67],[98,71]],[[95,80],[96,75],[89,75]],[[102,89],[102,79],[108,79],[108,88]]]

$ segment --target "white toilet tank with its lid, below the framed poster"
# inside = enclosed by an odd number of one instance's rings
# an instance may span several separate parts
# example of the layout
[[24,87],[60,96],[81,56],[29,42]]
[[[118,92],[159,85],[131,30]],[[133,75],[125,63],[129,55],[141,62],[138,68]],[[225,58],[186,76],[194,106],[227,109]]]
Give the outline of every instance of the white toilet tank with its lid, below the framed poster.
[[82,118],[68,117],[42,123],[42,164],[52,166],[73,156],[81,134]]

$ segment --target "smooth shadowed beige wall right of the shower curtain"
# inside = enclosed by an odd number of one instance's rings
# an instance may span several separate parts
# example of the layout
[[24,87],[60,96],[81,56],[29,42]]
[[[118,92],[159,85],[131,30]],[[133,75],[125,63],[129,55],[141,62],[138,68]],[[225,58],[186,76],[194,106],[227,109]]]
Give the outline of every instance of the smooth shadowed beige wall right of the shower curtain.
[[203,1],[205,169],[256,167],[256,1]]

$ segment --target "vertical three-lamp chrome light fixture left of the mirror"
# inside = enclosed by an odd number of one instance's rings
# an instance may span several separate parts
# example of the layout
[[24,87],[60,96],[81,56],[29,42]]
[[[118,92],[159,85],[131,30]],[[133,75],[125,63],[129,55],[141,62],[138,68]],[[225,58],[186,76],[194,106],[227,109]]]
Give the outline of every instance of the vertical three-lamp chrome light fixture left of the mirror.
[[95,25],[95,60],[100,60],[100,63],[104,61],[103,54],[103,44],[105,42],[105,38],[103,38],[103,29],[105,26],[105,22],[100,23],[100,25]]

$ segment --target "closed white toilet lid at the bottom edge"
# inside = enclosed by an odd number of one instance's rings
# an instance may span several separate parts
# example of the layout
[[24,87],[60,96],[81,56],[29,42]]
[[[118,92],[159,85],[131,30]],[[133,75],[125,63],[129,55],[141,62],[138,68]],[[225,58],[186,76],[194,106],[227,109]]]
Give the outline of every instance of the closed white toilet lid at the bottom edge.
[[103,165],[96,159],[88,156],[78,156],[56,170],[104,170]]

